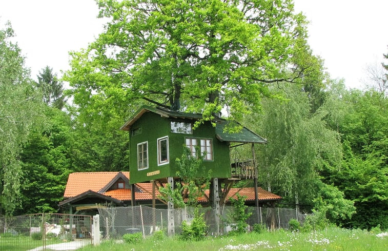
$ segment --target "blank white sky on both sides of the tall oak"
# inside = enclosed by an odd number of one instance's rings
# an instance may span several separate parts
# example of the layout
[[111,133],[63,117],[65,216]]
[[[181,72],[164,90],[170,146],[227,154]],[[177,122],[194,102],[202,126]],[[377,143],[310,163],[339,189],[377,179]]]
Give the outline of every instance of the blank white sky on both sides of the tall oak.
[[[387,0],[294,0],[311,22],[309,44],[332,78],[363,88],[366,65],[388,53]],[[46,65],[59,76],[69,69],[69,51],[94,41],[104,22],[93,0],[0,0],[0,24],[10,21],[26,66],[36,80]]]

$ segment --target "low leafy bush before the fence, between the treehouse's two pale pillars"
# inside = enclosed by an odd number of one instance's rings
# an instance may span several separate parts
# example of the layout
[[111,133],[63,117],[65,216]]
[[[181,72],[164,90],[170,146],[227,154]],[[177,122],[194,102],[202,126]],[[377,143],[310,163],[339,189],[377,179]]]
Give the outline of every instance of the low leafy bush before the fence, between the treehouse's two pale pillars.
[[203,239],[206,236],[206,230],[208,226],[206,225],[205,220],[203,219],[204,214],[199,214],[199,208],[194,209],[194,219],[190,224],[186,221],[182,222],[182,235],[183,240],[193,240],[198,241]]

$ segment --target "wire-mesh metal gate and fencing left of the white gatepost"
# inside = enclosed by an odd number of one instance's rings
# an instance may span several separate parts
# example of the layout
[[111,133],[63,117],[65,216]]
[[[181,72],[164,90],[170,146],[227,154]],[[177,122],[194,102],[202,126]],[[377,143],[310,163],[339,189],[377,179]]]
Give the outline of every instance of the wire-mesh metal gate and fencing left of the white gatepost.
[[0,250],[70,250],[92,244],[92,217],[33,214],[0,217]]

